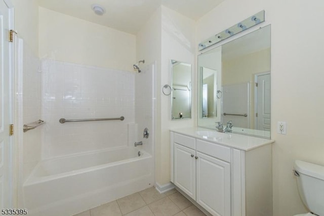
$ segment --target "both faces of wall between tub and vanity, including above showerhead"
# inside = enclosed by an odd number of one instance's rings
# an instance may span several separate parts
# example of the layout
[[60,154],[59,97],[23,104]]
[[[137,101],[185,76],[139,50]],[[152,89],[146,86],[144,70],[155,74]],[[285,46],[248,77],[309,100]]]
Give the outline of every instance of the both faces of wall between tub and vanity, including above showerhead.
[[[147,62],[156,60],[156,136],[155,177],[159,185],[170,182],[171,127],[193,126],[196,105],[192,103],[192,119],[171,120],[171,96],[162,94],[162,87],[171,84],[171,59],[194,65],[195,22],[168,8],[155,11],[137,34],[137,58]],[[192,79],[195,83],[195,77]],[[193,101],[196,87],[192,86]]]

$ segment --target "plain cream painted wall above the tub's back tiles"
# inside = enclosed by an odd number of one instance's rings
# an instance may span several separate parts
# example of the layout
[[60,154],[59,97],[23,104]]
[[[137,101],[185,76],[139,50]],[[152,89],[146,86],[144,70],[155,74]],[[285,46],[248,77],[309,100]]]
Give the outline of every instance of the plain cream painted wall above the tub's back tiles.
[[135,35],[39,7],[39,57],[133,70]]

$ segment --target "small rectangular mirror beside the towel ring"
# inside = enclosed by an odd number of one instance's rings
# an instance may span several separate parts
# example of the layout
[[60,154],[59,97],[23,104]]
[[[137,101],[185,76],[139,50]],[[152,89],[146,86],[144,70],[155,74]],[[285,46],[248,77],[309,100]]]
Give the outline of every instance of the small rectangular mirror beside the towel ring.
[[171,119],[191,118],[191,64],[171,60]]

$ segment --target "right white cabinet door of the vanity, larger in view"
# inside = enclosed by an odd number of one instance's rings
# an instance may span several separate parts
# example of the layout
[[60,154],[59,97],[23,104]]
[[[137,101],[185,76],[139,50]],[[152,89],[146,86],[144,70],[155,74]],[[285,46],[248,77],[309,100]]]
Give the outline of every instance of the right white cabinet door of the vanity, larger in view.
[[197,152],[196,202],[217,216],[230,216],[230,164]]

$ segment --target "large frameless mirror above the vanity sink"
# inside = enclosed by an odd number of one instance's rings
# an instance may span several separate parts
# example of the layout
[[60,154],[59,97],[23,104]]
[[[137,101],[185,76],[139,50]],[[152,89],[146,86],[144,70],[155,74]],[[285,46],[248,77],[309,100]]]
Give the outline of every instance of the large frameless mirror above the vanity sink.
[[201,127],[270,138],[270,25],[198,55]]

